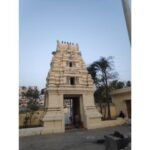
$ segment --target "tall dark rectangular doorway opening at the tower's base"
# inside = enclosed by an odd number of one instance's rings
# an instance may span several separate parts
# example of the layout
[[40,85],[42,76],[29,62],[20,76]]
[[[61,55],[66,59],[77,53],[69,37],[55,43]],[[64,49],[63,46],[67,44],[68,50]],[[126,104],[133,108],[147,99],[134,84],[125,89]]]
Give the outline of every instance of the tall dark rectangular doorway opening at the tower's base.
[[80,96],[64,96],[65,128],[80,128]]

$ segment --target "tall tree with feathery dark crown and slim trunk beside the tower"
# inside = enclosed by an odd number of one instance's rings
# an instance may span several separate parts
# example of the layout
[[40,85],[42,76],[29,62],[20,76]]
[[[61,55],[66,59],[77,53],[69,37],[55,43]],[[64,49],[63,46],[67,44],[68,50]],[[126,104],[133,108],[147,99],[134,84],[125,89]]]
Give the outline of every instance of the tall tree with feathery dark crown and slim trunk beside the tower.
[[[89,68],[92,70],[92,78],[94,78],[94,83],[96,81],[97,88],[104,87],[105,102],[108,106],[108,118],[111,118],[110,114],[110,96],[109,96],[109,82],[117,77],[117,73],[113,69],[114,62],[113,57],[101,57],[99,60],[92,63]],[[89,72],[89,73],[91,73]]]

